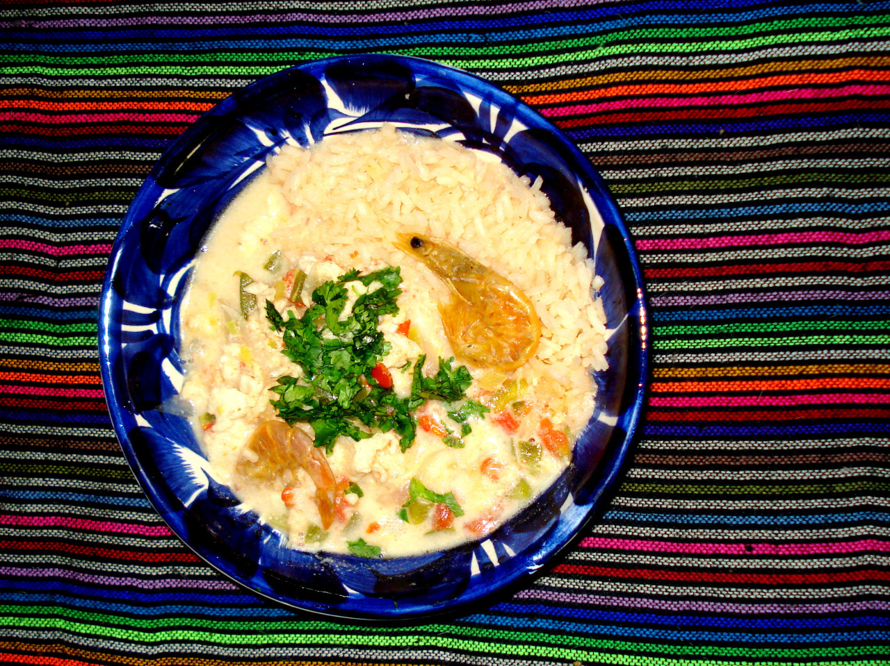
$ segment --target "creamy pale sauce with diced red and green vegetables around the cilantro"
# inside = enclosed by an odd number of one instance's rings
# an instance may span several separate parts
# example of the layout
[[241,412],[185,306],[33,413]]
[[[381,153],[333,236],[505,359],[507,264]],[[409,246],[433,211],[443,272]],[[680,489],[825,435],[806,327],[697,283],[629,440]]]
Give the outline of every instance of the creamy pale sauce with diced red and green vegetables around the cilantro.
[[[282,353],[282,336],[271,330],[266,301],[285,317],[288,311],[300,317],[319,285],[351,269],[368,274],[397,266],[399,311],[380,317],[378,325],[388,343],[381,363],[392,391],[402,399],[411,396],[414,367],[422,355],[427,377],[436,373],[440,359],[454,356],[439,309],[449,300],[449,289],[429,269],[394,250],[388,236],[379,237],[376,245],[362,239],[352,247],[322,237],[307,240],[312,233],[295,237],[295,226],[302,229],[306,223],[281,183],[265,171],[215,222],[193,270],[182,308],[188,372],[181,397],[190,404],[214,477],[298,549],[399,557],[489,534],[568,464],[571,445],[593,410],[588,369],[567,365],[557,372],[540,354],[509,372],[458,359],[453,367],[465,365],[472,377],[465,396],[417,406],[412,411],[417,434],[404,451],[394,431],[376,431],[359,441],[336,438],[325,453],[336,477],[331,494],[336,516],[329,526],[322,525],[317,487],[306,469],[291,465],[274,479],[259,481],[239,472],[258,426],[280,421],[271,405],[277,397],[272,387],[280,377],[303,375],[300,365]],[[303,289],[289,293],[301,275]],[[349,286],[341,319],[361,293],[379,288],[375,283]],[[255,299],[249,311],[244,311],[246,299],[247,305]],[[553,342],[546,339],[546,344]],[[467,401],[487,405],[488,411],[465,421],[449,416]],[[313,436],[307,423],[294,427]],[[446,437],[452,437],[452,445]],[[454,446],[458,442],[459,448]],[[410,502],[412,481],[415,490],[422,486],[440,500],[450,493],[459,510],[424,496]]]

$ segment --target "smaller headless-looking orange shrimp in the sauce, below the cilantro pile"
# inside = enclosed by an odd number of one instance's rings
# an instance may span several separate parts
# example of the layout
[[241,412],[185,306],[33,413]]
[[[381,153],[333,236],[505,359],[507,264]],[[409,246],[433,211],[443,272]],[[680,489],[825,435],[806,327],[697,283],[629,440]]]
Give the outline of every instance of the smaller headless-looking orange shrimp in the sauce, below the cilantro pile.
[[336,511],[336,478],[325,453],[302,429],[265,421],[254,430],[236,465],[239,474],[260,481],[274,481],[288,472],[295,475],[295,467],[303,468],[315,484],[321,526],[328,529]]

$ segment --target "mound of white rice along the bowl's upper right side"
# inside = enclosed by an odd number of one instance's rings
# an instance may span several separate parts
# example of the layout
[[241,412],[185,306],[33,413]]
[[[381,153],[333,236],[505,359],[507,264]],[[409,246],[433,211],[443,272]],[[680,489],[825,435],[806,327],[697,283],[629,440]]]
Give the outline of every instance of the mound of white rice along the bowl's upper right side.
[[593,261],[555,220],[540,178],[532,183],[488,154],[392,126],[328,136],[311,149],[286,146],[268,166],[294,205],[282,229],[294,245],[344,266],[356,263],[349,255],[357,250],[361,263],[399,266],[397,232],[446,240],[529,296],[543,326],[536,356],[554,376],[606,367]]

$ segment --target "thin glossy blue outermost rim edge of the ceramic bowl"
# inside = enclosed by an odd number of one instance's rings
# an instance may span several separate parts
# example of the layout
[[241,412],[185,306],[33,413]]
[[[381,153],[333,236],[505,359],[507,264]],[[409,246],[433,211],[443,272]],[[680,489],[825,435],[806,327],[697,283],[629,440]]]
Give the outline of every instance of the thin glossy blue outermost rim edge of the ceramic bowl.
[[[439,603],[436,604],[436,606],[429,607],[417,606],[411,609],[397,610],[396,612],[386,612],[384,608],[376,608],[374,611],[367,614],[352,609],[349,612],[344,613],[337,612],[336,609],[330,607],[326,608],[324,607],[324,604],[306,605],[305,603],[301,603],[304,602],[304,600],[301,599],[283,598],[282,595],[271,592],[270,590],[257,589],[245,582],[238,574],[234,573],[231,570],[231,567],[227,566],[226,562],[220,561],[220,558],[214,558],[211,554],[199,550],[197,546],[186,540],[183,534],[180,534],[180,530],[175,524],[176,521],[172,519],[171,512],[167,510],[165,500],[160,496],[160,493],[158,493],[158,489],[155,487],[153,481],[146,473],[141,461],[134,452],[134,447],[130,442],[128,432],[124,426],[125,415],[132,412],[125,409],[125,401],[121,399],[121,393],[123,392],[122,388],[118,387],[116,381],[114,381],[110,359],[111,350],[109,348],[109,342],[113,337],[113,321],[111,319],[111,313],[113,303],[115,299],[118,298],[114,290],[113,280],[119,269],[119,263],[122,259],[122,250],[129,237],[134,234],[134,227],[138,221],[138,216],[134,211],[143,206],[146,201],[150,201],[151,203],[156,201],[156,198],[152,196],[154,193],[150,191],[151,188],[149,187],[149,184],[154,182],[158,174],[163,173],[169,156],[195,146],[196,140],[200,139],[205,131],[204,124],[200,122],[202,119],[208,116],[219,115],[221,112],[227,111],[235,105],[236,97],[240,99],[252,99],[262,95],[263,92],[275,89],[280,82],[287,81],[287,79],[296,71],[312,74],[314,71],[324,71],[324,69],[332,63],[352,63],[367,68],[368,66],[379,67],[386,62],[402,63],[408,66],[412,73],[415,73],[417,68],[435,69],[439,74],[444,74],[444,76],[456,79],[456,84],[461,88],[484,92],[489,99],[494,100],[495,104],[509,105],[513,108],[522,109],[523,113],[528,113],[531,116],[536,117],[538,123],[545,125],[551,132],[553,132],[554,138],[559,142],[561,148],[566,150],[572,156],[575,163],[573,164],[573,167],[577,166],[577,171],[583,179],[586,179],[586,181],[594,185],[594,188],[589,191],[589,194],[594,199],[595,208],[603,219],[604,227],[611,227],[618,232],[620,244],[624,251],[624,259],[627,260],[627,265],[623,265],[623,269],[629,269],[629,273],[633,278],[634,284],[630,285],[631,290],[626,289],[626,292],[629,293],[629,291],[633,291],[635,293],[634,299],[628,302],[627,306],[628,319],[631,318],[631,314],[633,314],[633,310],[635,310],[634,325],[630,326],[629,330],[630,333],[635,334],[638,337],[638,341],[635,342],[632,349],[636,354],[635,372],[632,373],[636,383],[633,387],[628,386],[625,388],[625,395],[632,393],[632,397],[627,402],[626,408],[622,411],[622,413],[626,414],[624,421],[627,426],[624,429],[624,436],[620,438],[619,442],[611,442],[610,438],[609,445],[603,453],[603,458],[597,464],[597,473],[587,481],[588,484],[595,485],[594,491],[591,494],[589,509],[587,509],[585,516],[580,519],[578,524],[573,527],[572,535],[569,539],[560,543],[549,544],[546,549],[536,551],[541,554],[543,562],[538,569],[525,569],[518,574],[514,574],[508,580],[498,582],[497,584],[477,585],[472,588],[468,586],[461,594],[460,598],[445,605]],[[374,67],[371,68],[371,73],[373,73]],[[478,603],[483,599],[490,598],[496,593],[505,592],[506,590],[514,589],[521,585],[527,585],[533,577],[536,577],[546,568],[545,565],[552,564],[554,558],[564,550],[567,550],[572,543],[576,542],[580,537],[580,534],[584,531],[585,526],[595,518],[598,511],[602,510],[603,495],[611,489],[615,479],[619,476],[621,469],[627,464],[627,452],[636,437],[638,437],[639,423],[642,418],[643,405],[649,387],[650,350],[648,342],[649,325],[647,313],[648,304],[643,286],[642,270],[627,226],[617,205],[612,200],[611,194],[602,177],[595,171],[587,156],[584,156],[575,143],[559,128],[552,124],[550,120],[545,116],[540,115],[535,109],[530,108],[527,104],[522,102],[522,100],[514,98],[513,95],[500,88],[498,84],[448,64],[413,56],[399,56],[385,53],[362,53],[356,55],[333,56],[320,60],[309,60],[295,65],[294,67],[280,69],[271,75],[263,76],[255,82],[232,92],[226,98],[214,105],[213,108],[199,116],[194,123],[190,124],[184,132],[178,135],[165,148],[129,205],[120,228],[118,229],[109,256],[108,269],[106,270],[102,283],[99,307],[99,354],[101,379],[104,389],[103,393],[109,407],[109,414],[111,416],[112,426],[115,430],[118,443],[120,444],[123,453],[125,453],[127,464],[134,472],[134,477],[140,485],[142,492],[146,494],[153,509],[158,512],[158,515],[164,520],[172,534],[195,553],[198,558],[211,566],[214,571],[223,574],[232,582],[238,583],[240,588],[247,588],[263,598],[269,598],[284,606],[289,606],[297,610],[328,617],[328,619],[374,623],[407,622],[417,620],[418,617],[433,618],[442,615],[457,614],[466,609],[467,606]],[[630,373],[631,369],[628,368],[628,376]],[[343,557],[351,558],[353,556]],[[357,559],[360,560],[361,558]]]

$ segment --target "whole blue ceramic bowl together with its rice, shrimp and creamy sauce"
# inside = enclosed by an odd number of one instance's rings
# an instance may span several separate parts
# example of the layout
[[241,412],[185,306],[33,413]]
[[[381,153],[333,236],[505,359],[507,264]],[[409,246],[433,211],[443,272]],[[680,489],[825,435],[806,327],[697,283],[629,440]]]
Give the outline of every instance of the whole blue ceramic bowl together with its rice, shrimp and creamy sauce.
[[602,182],[530,108],[424,60],[223,101],[127,213],[109,408],[166,522],[305,610],[398,620],[529,578],[595,515],[645,384]]

